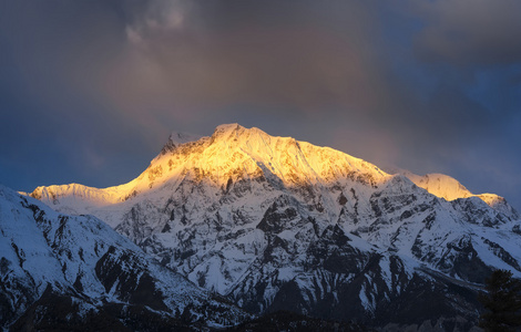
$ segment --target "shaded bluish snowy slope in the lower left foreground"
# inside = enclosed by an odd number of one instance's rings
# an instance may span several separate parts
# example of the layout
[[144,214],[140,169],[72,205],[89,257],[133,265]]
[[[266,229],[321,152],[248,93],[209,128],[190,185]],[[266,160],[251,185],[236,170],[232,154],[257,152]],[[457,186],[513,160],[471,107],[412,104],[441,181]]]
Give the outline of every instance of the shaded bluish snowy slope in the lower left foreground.
[[147,330],[249,318],[162,267],[92,216],[59,214],[0,186],[0,326]]

